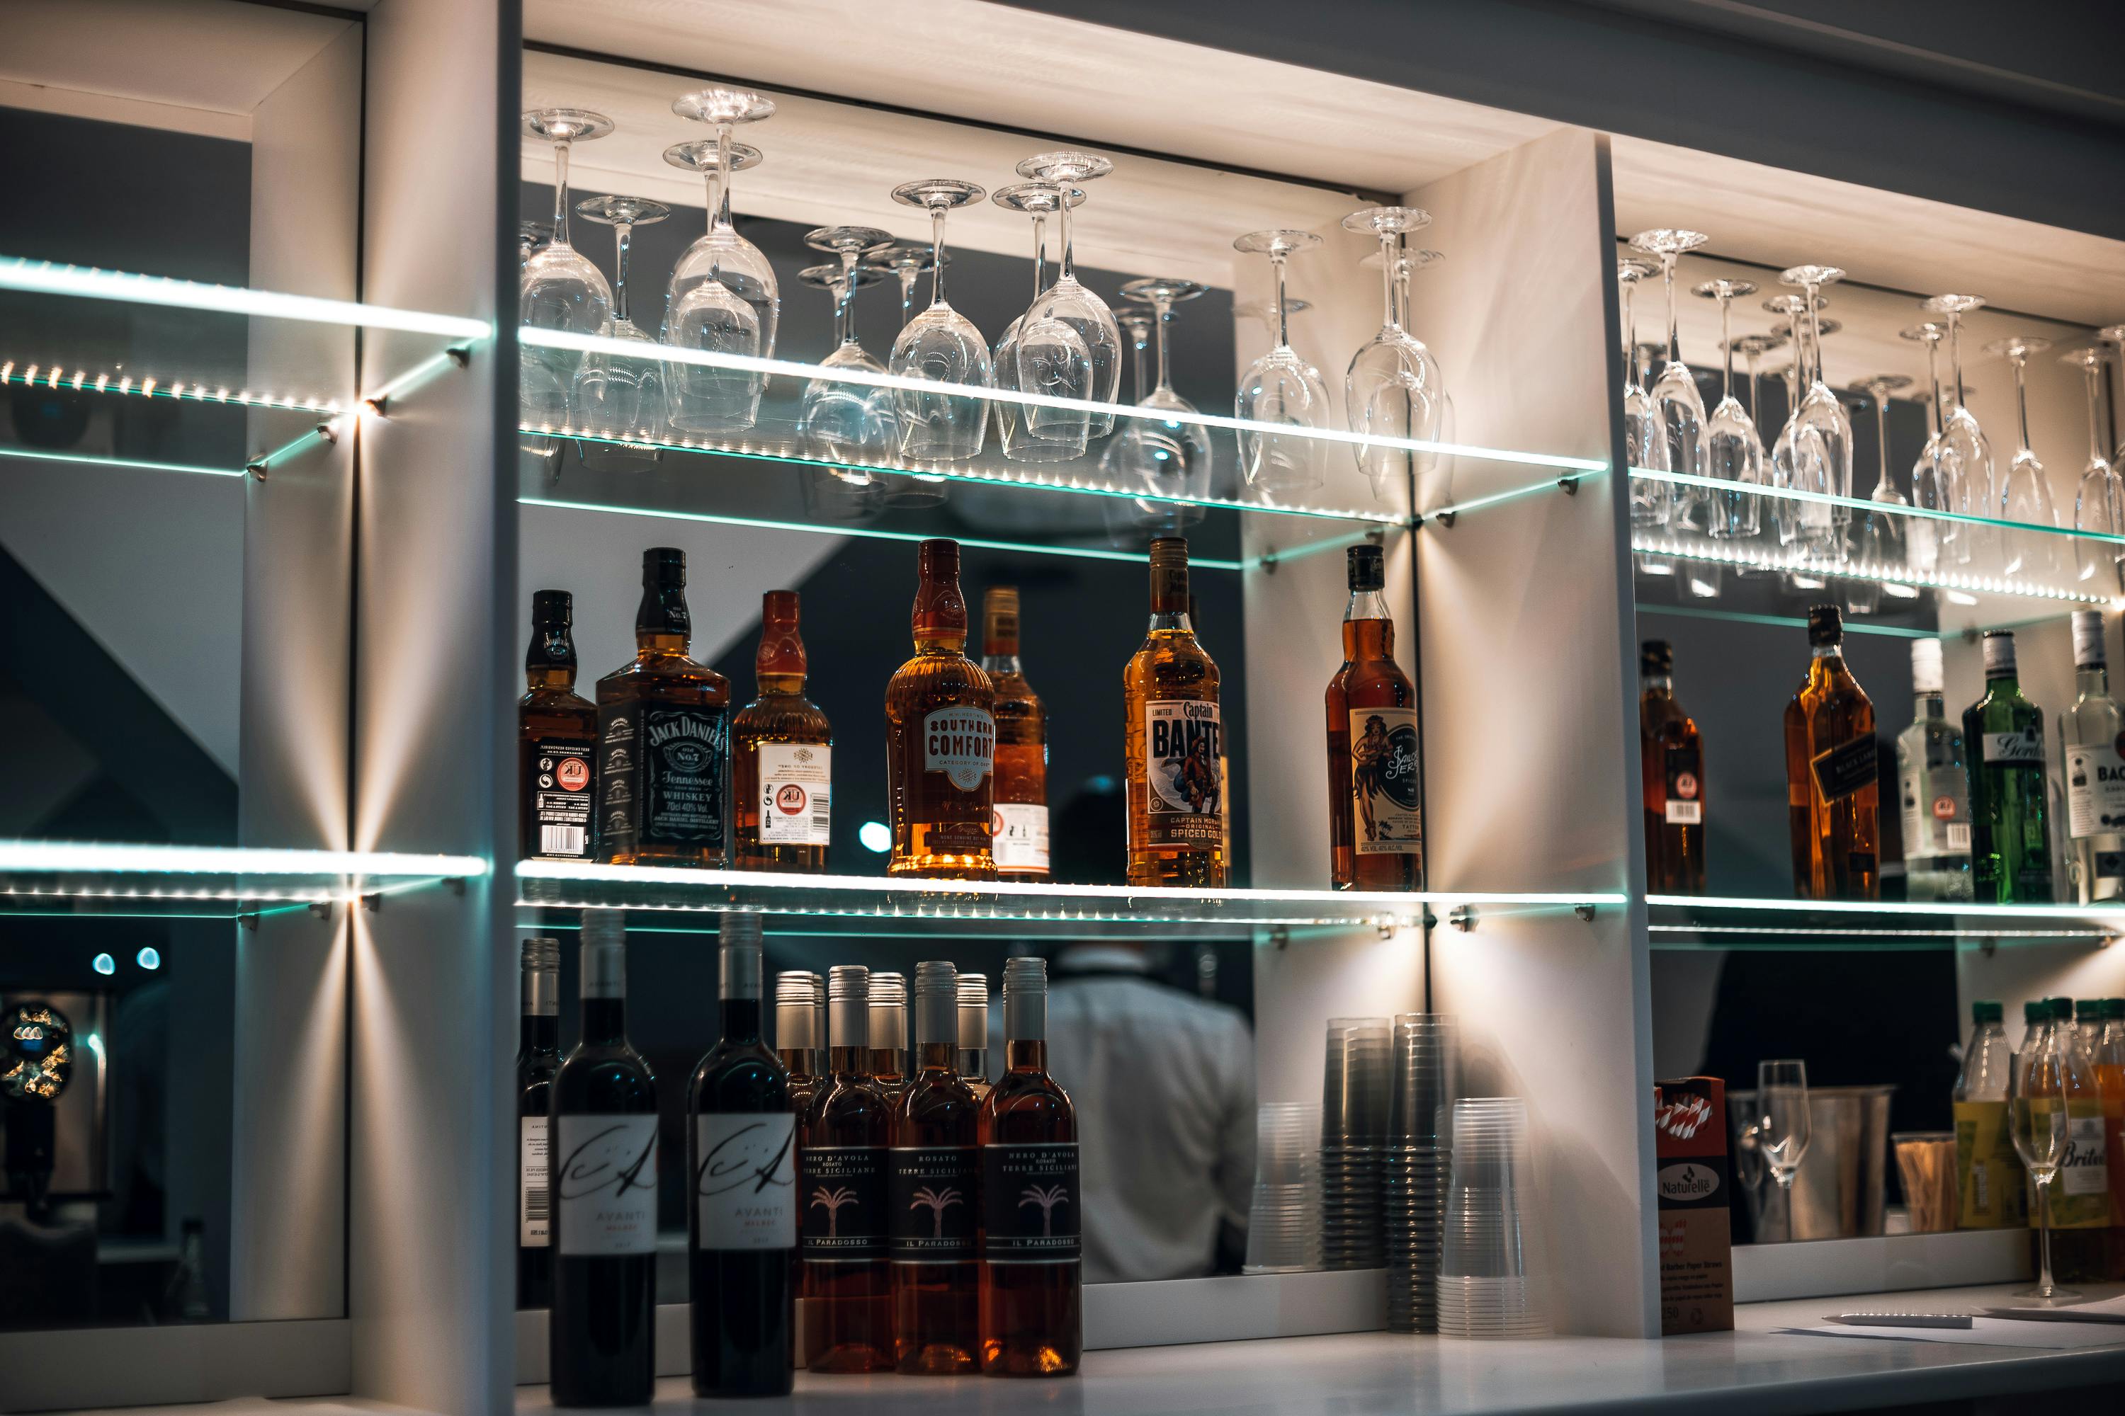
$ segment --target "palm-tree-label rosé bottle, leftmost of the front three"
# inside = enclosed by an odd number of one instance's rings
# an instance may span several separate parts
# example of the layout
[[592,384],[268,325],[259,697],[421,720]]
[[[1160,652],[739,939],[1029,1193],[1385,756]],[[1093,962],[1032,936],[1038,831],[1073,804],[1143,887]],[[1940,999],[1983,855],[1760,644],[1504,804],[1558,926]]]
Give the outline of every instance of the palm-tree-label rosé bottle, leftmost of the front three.
[[867,968],[835,964],[829,970],[827,1017],[833,1025],[829,1076],[803,1117],[797,1149],[805,1365],[812,1371],[890,1371],[886,1146],[892,1142],[892,1106],[867,1072]]

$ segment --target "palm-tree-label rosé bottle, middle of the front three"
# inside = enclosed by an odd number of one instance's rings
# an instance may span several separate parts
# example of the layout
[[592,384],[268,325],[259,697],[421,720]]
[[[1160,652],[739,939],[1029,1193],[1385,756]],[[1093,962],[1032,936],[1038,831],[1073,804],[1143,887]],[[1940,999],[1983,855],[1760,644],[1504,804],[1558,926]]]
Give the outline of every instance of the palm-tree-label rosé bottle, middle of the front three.
[[892,1340],[903,1374],[952,1376],[978,1363],[980,1110],[958,1078],[956,972],[916,964],[916,1072],[892,1108],[886,1180]]

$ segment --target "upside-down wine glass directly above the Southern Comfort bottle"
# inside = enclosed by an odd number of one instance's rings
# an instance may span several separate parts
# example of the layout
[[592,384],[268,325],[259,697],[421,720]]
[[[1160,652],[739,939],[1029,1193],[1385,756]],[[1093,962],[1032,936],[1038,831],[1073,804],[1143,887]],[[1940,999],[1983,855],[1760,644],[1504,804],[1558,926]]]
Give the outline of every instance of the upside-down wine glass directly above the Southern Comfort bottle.
[[[988,388],[992,365],[988,340],[965,314],[944,297],[944,214],[954,206],[980,202],[986,193],[954,176],[931,176],[901,183],[892,200],[920,206],[931,214],[931,304],[907,321],[892,342],[890,369],[901,378],[935,384]],[[901,456],[918,463],[963,463],[982,454],[988,433],[988,399],[965,393],[929,393],[897,388],[895,408],[901,416]]]

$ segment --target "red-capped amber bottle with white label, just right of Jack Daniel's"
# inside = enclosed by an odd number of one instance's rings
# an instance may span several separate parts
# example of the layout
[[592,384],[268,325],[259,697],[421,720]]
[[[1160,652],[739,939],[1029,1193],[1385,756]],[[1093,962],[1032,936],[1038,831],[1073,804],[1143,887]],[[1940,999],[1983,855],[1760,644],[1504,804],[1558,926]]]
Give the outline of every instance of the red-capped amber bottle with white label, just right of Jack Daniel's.
[[731,805],[740,870],[824,870],[833,728],[803,696],[797,592],[761,597],[759,696],[731,718]]

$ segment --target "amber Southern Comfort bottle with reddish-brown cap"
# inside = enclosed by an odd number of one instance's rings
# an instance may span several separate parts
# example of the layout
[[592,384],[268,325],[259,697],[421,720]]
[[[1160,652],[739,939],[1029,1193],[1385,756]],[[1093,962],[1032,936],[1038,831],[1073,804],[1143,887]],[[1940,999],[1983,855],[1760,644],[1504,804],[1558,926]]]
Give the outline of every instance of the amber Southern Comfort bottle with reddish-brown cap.
[[922,541],[912,628],[916,656],[886,684],[888,875],[988,881],[997,690],[967,658],[958,541]]

